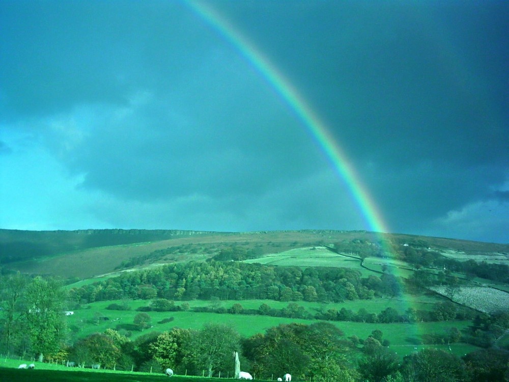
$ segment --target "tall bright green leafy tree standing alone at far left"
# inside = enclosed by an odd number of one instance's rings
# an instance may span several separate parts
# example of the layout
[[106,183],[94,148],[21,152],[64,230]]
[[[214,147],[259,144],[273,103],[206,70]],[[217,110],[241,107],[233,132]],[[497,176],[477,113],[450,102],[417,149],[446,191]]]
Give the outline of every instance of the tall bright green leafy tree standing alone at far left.
[[26,328],[40,362],[44,354],[57,352],[67,337],[65,301],[66,292],[57,279],[38,276],[26,287]]

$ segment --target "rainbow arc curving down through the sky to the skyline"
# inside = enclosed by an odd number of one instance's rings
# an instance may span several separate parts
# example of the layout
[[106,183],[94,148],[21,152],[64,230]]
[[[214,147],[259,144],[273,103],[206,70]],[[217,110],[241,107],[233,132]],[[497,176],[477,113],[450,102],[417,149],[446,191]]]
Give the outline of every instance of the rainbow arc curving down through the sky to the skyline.
[[[308,105],[298,90],[264,54],[249,42],[235,27],[214,9],[201,2],[187,2],[197,15],[211,25],[262,75],[277,94],[288,104],[298,119],[312,135],[320,149],[330,161],[332,168],[346,183],[349,193],[356,202],[366,225],[375,233],[390,232],[387,229],[372,197],[362,184],[344,151],[335,142],[332,134],[319,116]],[[382,240],[382,242],[385,240]],[[388,250],[388,248],[385,248]]]

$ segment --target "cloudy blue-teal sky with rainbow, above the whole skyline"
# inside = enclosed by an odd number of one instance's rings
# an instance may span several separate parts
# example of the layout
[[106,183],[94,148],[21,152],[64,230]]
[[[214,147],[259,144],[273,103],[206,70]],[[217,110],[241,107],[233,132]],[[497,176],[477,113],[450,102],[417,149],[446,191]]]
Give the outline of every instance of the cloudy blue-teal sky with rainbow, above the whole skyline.
[[507,30],[491,0],[2,0],[0,228],[509,243]]

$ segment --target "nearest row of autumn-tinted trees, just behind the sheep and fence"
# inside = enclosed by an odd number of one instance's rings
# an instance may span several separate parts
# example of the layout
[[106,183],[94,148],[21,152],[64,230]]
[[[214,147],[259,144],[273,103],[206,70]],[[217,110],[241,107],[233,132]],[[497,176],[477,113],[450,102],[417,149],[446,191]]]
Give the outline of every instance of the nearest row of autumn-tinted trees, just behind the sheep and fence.
[[[451,331],[450,335],[454,335]],[[105,368],[231,377],[234,352],[243,370],[256,379],[290,372],[295,380],[315,382],[497,382],[509,377],[503,349],[479,350],[462,359],[450,352],[423,349],[401,361],[375,330],[365,340],[345,338],[329,323],[281,324],[265,333],[242,338],[228,325],[206,324],[201,330],[174,328],[148,333],[131,342],[108,329],[61,351],[62,361],[100,363]]]

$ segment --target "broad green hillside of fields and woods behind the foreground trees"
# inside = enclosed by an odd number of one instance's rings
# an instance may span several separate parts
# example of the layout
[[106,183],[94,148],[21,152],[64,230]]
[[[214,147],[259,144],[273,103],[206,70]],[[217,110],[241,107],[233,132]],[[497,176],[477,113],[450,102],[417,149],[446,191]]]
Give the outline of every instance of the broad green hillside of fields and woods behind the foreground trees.
[[[508,245],[327,230],[25,231],[10,237],[22,237],[36,253],[37,243],[45,243],[47,252],[3,263],[6,280],[23,278],[14,270],[68,278],[65,308],[59,311],[65,312],[73,346],[61,363],[89,354],[82,347],[92,346],[98,336],[115,335],[111,340],[125,346],[115,358],[101,361],[104,368],[157,369],[160,365],[146,357],[147,341],[159,346],[161,336],[172,331],[185,334],[182,341],[202,341],[200,336],[210,332],[207,325],[224,322],[229,338],[234,334],[245,341],[270,342],[279,330],[305,334],[327,328],[349,349],[353,368],[368,357],[370,346],[383,346],[394,360],[405,360],[432,350],[460,357],[507,341]],[[62,241],[52,242],[55,237]],[[3,244],[7,248],[9,241]],[[48,251],[71,245],[67,252]],[[43,280],[24,279],[26,289]],[[7,317],[8,307],[3,305],[0,316]],[[102,356],[94,357],[87,364]],[[172,361],[177,374],[204,374],[200,365],[188,369],[186,359],[178,357]],[[273,374],[250,364],[250,353],[243,357],[260,375]]]

